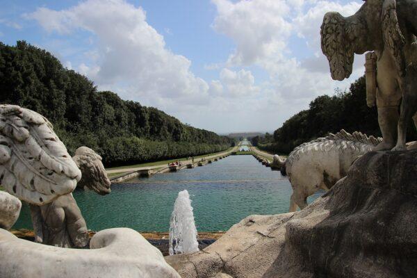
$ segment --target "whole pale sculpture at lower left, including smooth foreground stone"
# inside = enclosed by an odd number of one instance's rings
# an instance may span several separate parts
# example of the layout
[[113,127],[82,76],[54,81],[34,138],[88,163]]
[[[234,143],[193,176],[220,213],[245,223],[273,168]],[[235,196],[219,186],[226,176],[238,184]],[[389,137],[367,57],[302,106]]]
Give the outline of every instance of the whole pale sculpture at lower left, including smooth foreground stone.
[[[137,231],[106,229],[91,238],[72,191],[110,193],[101,156],[88,147],[71,158],[51,123],[34,111],[0,105],[0,277],[172,277],[178,273]],[[78,183],[78,184],[77,184]],[[10,193],[10,194],[9,194]],[[35,241],[7,231],[31,205]],[[80,263],[80,261],[82,263]]]

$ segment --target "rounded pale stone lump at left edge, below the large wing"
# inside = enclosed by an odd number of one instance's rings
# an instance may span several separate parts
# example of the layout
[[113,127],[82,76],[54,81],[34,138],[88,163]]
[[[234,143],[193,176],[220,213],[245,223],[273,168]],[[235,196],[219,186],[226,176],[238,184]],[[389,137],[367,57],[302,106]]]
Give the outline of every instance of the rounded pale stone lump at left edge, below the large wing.
[[22,203],[16,197],[0,191],[0,229],[10,229],[19,218]]

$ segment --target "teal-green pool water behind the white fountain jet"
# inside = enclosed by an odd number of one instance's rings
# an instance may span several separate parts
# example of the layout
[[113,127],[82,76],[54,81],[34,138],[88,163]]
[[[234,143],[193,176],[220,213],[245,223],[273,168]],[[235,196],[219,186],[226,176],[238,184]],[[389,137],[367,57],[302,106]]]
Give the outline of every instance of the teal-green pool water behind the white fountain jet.
[[[253,156],[229,156],[204,167],[157,174],[115,184],[111,189],[106,196],[74,192],[89,229],[168,231],[175,199],[186,189],[192,195],[197,230],[225,231],[248,215],[288,212],[292,193],[286,177]],[[309,197],[309,202],[320,195],[322,192]],[[24,206],[14,228],[31,227],[30,213]]]

